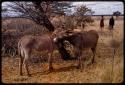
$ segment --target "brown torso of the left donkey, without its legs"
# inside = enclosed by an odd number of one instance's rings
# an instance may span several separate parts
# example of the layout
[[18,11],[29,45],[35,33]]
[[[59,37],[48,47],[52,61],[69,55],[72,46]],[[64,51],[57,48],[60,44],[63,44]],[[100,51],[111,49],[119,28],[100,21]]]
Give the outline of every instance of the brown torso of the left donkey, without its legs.
[[53,50],[53,40],[49,35],[43,36],[24,36],[20,39],[22,48],[36,51]]

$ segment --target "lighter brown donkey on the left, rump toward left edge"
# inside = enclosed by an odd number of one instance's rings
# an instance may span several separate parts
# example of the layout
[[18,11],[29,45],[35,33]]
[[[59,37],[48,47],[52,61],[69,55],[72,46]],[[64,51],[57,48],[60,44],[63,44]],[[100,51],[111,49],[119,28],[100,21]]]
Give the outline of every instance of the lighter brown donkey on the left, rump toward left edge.
[[44,34],[42,36],[24,36],[18,42],[18,53],[20,54],[19,69],[20,75],[22,75],[22,65],[26,69],[27,75],[31,76],[28,69],[28,61],[31,56],[31,52],[35,51],[47,51],[49,54],[49,71],[53,69],[52,67],[52,53],[57,46],[53,42],[53,36]]

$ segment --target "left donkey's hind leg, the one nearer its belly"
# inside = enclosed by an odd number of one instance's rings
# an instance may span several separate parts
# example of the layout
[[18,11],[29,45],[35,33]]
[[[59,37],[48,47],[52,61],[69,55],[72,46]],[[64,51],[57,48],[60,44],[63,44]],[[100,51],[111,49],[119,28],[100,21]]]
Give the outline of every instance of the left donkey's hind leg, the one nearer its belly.
[[27,75],[31,76],[29,73],[29,68],[28,68],[28,64],[29,64],[29,56],[30,56],[30,51],[29,50],[25,50],[25,58],[24,58],[24,67],[26,69]]

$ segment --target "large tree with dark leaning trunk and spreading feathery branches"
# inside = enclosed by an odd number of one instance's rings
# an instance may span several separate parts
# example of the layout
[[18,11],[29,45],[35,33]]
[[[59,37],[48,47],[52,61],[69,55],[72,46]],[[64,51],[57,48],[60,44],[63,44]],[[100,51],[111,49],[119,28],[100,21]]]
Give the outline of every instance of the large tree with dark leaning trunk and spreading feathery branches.
[[[44,25],[49,31],[54,27],[48,21],[51,15],[65,14],[71,8],[71,2],[39,1],[39,2],[12,2],[8,7],[20,16],[28,17],[39,25]],[[44,23],[45,22],[45,23]]]

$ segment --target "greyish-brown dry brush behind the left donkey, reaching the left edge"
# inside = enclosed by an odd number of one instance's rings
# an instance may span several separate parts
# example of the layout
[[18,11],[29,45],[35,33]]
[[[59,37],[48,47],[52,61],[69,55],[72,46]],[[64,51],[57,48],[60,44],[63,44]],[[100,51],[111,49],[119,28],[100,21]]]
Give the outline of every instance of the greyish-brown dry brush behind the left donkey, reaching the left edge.
[[[42,29],[41,29],[42,28]],[[2,45],[5,50],[17,50],[18,40],[25,35],[41,35],[47,30],[29,19],[13,18],[2,20]],[[6,53],[6,52],[5,52]]]

